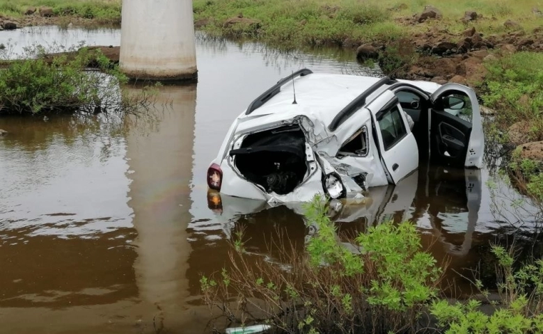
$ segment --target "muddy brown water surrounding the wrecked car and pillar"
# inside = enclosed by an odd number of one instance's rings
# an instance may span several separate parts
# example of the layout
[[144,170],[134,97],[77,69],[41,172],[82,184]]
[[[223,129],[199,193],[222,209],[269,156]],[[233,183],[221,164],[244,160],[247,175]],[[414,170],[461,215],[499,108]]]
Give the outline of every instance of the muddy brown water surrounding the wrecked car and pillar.
[[[119,38],[115,30],[54,27],[0,33],[12,56],[33,42]],[[160,88],[167,107],[148,118],[0,118],[9,132],[0,137],[1,333],[208,333],[198,281],[226,264],[235,228],[245,228],[253,256],[269,261],[278,261],[266,246],[277,230],[304,249],[313,230],[299,206],[208,202],[207,166],[230,122],[280,77],[301,67],[369,69],[342,51],[281,54],[205,38],[197,54],[198,84]],[[469,294],[461,275],[492,276],[489,243],[510,242],[526,217],[512,205],[521,199],[486,168],[424,165],[331,215],[347,234],[386,219],[413,221],[423,244],[450,262],[455,292]],[[522,228],[528,237],[536,230],[529,220]]]

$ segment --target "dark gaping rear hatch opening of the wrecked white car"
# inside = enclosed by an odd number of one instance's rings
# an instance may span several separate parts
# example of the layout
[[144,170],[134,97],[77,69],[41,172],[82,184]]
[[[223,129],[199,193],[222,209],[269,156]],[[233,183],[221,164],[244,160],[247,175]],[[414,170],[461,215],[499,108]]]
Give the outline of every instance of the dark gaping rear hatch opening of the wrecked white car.
[[268,193],[286,195],[306,177],[306,138],[298,125],[249,134],[230,155],[239,173]]

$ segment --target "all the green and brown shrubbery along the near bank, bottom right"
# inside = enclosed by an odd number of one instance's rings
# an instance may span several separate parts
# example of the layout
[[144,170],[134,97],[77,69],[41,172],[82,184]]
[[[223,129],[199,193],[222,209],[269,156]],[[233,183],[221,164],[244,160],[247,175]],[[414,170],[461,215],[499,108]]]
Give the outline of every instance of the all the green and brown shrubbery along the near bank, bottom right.
[[439,285],[443,269],[422,249],[414,224],[381,223],[346,248],[326,210],[320,198],[306,206],[317,232],[305,253],[274,244],[280,263],[253,262],[237,232],[229,269],[200,279],[211,317],[218,319],[218,309],[235,326],[269,324],[274,333],[292,334],[542,333],[542,259],[519,263],[513,248],[493,245],[499,298],[473,278],[478,296],[450,303]]

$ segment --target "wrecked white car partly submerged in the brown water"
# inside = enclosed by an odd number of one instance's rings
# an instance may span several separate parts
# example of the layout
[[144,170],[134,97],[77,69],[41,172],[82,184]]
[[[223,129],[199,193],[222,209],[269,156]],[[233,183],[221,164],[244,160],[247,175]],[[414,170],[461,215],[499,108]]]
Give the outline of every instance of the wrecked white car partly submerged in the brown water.
[[304,69],[236,118],[207,185],[270,204],[345,198],[397,184],[419,159],[481,168],[483,151],[471,88]]

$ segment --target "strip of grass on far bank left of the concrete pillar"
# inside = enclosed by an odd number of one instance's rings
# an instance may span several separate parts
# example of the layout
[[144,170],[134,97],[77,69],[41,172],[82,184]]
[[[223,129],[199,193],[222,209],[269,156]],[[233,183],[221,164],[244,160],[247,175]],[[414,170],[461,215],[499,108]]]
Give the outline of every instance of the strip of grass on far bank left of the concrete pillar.
[[58,17],[81,17],[100,24],[120,23],[120,0],[0,0],[0,15],[20,18],[27,8],[42,6],[51,7]]

